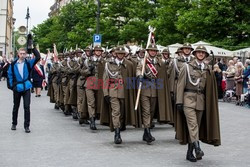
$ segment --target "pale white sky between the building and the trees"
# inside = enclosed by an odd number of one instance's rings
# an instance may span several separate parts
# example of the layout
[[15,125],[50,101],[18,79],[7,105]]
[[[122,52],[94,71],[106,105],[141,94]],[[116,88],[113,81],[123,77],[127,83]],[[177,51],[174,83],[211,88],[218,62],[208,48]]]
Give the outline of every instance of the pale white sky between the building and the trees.
[[30,9],[29,30],[48,18],[54,0],[14,0],[15,28],[26,26],[27,7]]

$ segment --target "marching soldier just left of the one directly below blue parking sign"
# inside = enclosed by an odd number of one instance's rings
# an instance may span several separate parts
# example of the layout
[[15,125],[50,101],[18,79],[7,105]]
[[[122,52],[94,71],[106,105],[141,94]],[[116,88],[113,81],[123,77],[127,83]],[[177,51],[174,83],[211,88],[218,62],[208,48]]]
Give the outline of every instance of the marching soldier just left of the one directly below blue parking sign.
[[77,111],[79,114],[79,124],[88,124],[88,110],[87,110],[87,100],[84,84],[86,82],[86,77],[84,76],[87,73],[88,68],[85,66],[84,62],[87,58],[90,57],[90,47],[84,49],[86,57],[81,57],[79,60],[79,76],[77,80]]

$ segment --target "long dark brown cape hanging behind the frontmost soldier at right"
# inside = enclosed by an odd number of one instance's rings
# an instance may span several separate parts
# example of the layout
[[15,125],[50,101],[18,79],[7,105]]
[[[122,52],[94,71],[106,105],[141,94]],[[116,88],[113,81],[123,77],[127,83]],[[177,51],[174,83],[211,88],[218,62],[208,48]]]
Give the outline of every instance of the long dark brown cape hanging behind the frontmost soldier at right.
[[[176,138],[180,144],[188,143],[188,128],[184,112],[177,111]],[[199,139],[214,146],[221,145],[217,84],[214,72],[206,70],[205,110],[199,128]]]

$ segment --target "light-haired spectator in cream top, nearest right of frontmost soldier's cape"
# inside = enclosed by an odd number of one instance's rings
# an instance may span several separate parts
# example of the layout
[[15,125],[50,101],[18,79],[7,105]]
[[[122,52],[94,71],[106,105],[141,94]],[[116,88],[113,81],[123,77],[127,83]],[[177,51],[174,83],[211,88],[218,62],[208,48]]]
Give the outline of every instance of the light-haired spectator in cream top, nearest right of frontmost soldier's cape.
[[227,71],[224,71],[224,74],[226,76],[226,90],[233,90],[235,85],[234,83],[235,66],[233,60],[230,60],[228,62],[228,68]]

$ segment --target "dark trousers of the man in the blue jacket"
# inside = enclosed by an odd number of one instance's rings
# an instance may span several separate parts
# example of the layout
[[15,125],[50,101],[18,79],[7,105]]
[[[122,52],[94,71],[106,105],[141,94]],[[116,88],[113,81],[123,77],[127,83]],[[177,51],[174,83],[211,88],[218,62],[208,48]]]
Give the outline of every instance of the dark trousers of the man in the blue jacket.
[[25,92],[13,91],[14,107],[12,112],[12,124],[17,125],[18,109],[21,97],[23,97],[24,128],[26,128],[30,126],[30,89]]

